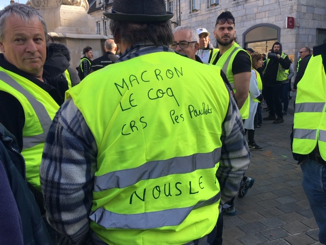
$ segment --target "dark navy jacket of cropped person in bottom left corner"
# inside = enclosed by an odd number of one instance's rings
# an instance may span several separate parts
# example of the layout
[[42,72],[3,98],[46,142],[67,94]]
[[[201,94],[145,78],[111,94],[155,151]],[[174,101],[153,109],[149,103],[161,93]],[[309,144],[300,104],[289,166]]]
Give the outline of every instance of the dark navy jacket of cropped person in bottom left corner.
[[[10,189],[7,188],[6,190],[4,190],[5,186],[0,186],[2,195],[12,194],[15,200],[15,202],[11,204],[6,203],[6,201],[9,201],[8,199],[4,200],[5,203],[2,202],[0,209],[3,211],[8,208],[8,205],[12,205],[9,207],[11,209],[10,211],[14,211],[15,208],[18,208],[18,215],[21,220],[21,224],[19,224],[19,219],[15,217],[11,217],[10,219],[5,219],[6,216],[3,215],[0,217],[0,227],[10,226],[14,229],[10,234],[7,234],[9,237],[4,237],[6,234],[2,232],[0,235],[0,244],[10,244],[4,243],[3,239],[6,238],[10,238],[11,240],[13,238],[18,240],[23,238],[24,245],[52,244],[40,209],[26,182],[24,158],[18,152],[17,142],[14,136],[11,135],[2,124],[0,124],[0,164],[2,164],[2,167],[4,167],[6,171],[10,185]],[[3,180],[4,179],[2,179],[2,181]],[[22,228],[22,236],[21,230],[18,228],[20,225]],[[3,229],[0,230],[3,231]]]

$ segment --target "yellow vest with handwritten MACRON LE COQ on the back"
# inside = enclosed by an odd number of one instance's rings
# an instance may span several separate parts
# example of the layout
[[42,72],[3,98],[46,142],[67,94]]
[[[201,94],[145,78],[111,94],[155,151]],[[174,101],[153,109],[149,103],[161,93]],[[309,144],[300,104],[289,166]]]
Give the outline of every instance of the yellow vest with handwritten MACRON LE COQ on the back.
[[106,66],[67,91],[97,144],[90,227],[100,239],[184,244],[212,231],[230,100],[220,72],[159,52]]

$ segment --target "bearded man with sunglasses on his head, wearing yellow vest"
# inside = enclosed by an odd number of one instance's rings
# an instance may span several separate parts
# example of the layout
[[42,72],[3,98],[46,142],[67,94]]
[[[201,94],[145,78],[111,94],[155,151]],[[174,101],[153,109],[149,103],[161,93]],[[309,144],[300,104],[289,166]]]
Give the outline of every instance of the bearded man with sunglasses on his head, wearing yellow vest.
[[235,42],[234,27],[234,17],[231,12],[226,11],[219,15],[215,24],[214,36],[220,51],[212,57],[210,64],[220,66],[224,71],[235,93],[242,119],[247,119],[252,63],[250,55]]

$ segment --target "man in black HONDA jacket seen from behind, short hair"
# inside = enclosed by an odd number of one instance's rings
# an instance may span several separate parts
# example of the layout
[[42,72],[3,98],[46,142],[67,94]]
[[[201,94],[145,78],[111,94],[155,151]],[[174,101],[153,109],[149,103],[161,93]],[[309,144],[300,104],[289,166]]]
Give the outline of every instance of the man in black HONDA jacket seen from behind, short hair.
[[115,63],[119,57],[116,56],[117,44],[113,39],[107,39],[104,43],[105,54],[92,61],[92,71],[99,70],[107,65]]

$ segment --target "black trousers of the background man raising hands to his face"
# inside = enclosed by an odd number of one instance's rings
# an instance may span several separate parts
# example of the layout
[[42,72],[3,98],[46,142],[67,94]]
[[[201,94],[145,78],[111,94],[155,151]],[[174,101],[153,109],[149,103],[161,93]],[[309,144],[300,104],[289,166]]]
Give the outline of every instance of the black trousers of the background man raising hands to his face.
[[275,116],[278,115],[283,118],[282,113],[282,84],[277,84],[273,86],[265,86],[265,100],[269,109],[269,114]]

